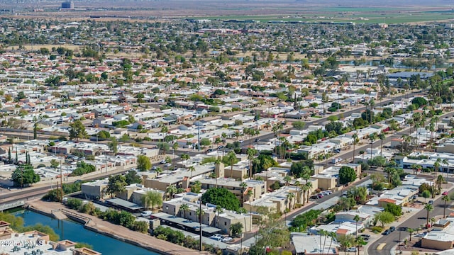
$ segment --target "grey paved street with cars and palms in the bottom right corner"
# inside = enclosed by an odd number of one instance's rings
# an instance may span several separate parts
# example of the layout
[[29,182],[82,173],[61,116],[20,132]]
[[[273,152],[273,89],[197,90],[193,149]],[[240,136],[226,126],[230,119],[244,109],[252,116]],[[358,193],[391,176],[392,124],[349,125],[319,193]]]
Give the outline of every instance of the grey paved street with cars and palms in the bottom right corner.
[[[450,195],[454,192],[450,192]],[[444,202],[441,200],[441,196],[433,201],[433,211],[429,213],[429,218],[437,216],[437,215],[443,215],[443,208],[444,208]],[[446,213],[448,214],[449,209],[447,208]],[[399,227],[409,227],[412,229],[416,229],[418,227],[421,227],[421,225],[426,225],[426,215],[427,211],[426,210],[421,210],[419,212],[416,212],[416,214],[412,217],[409,217],[408,220],[405,220],[402,222]],[[398,228],[398,227],[397,227]],[[416,234],[416,233],[415,233]],[[409,238],[409,233],[408,232],[400,232],[400,239]],[[417,238],[417,237],[412,237],[412,238]],[[391,254],[391,249],[394,247],[396,244],[399,243],[399,231],[396,230],[392,232],[391,234],[387,236],[382,236],[380,239],[377,239],[374,243],[372,243],[370,246],[367,247],[367,254],[368,255],[389,255]],[[380,244],[386,244],[383,249],[377,250],[377,246]]]

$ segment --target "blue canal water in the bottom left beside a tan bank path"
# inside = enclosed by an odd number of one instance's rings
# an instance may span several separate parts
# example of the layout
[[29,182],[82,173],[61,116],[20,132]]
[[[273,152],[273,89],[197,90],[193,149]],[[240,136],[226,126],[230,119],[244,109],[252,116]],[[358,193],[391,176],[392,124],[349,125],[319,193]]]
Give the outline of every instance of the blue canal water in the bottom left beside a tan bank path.
[[15,215],[23,217],[25,226],[35,225],[37,223],[48,225],[60,236],[60,240],[69,239],[74,242],[90,244],[95,251],[99,251],[104,255],[157,255],[153,251],[148,251],[138,246],[92,232],[70,220],[55,220],[28,210],[16,212]]

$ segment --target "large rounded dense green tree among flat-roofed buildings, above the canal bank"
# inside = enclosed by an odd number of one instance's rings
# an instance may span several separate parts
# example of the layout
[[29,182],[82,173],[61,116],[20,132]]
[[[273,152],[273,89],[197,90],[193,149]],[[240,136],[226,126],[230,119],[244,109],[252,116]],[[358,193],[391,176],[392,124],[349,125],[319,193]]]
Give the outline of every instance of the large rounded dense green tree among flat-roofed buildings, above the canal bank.
[[227,210],[237,211],[240,208],[240,200],[226,188],[209,188],[201,196],[201,201],[204,204],[211,203]]

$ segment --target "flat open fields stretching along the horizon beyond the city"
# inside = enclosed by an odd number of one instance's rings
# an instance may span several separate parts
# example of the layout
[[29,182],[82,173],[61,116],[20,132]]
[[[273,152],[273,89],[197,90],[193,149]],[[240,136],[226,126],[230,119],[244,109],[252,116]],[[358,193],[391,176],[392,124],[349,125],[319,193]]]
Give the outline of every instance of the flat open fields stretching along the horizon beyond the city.
[[[202,4],[203,2],[203,4]],[[58,11],[60,2],[43,3],[43,12],[33,12],[24,6],[17,18],[87,19],[99,16],[99,21],[153,21],[156,18],[200,18],[211,20],[354,22],[354,23],[426,23],[454,20],[452,6],[345,6],[294,1],[106,1],[77,2],[74,11]],[[358,6],[358,7],[352,7]],[[38,6],[33,6],[36,8]],[[12,7],[11,7],[12,8]]]

